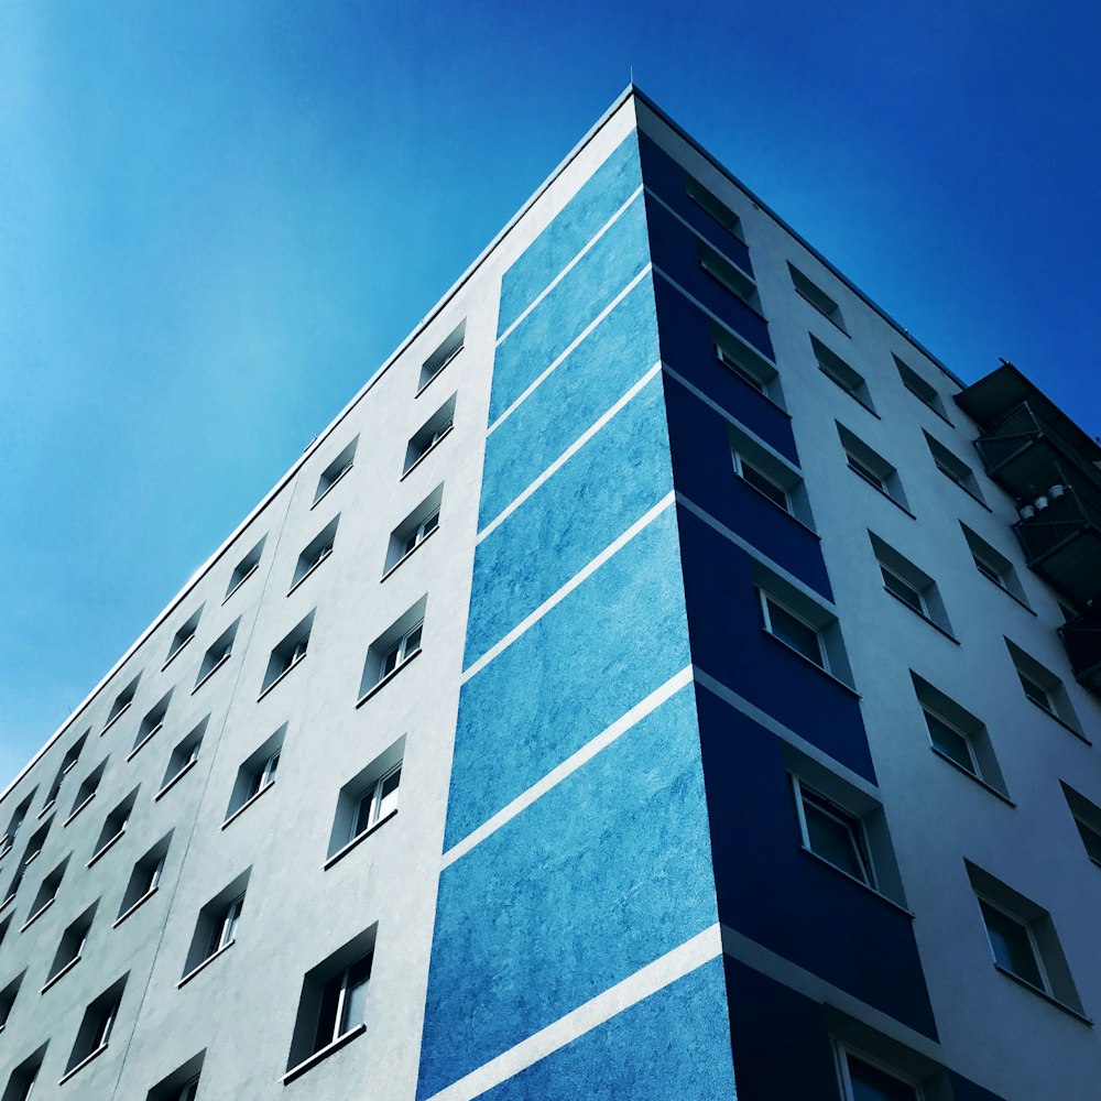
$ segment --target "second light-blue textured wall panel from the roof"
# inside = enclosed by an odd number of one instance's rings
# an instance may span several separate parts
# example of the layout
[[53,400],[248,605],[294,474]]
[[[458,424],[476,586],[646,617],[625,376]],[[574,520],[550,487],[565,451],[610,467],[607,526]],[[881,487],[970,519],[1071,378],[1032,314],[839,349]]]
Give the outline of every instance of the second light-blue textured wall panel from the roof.
[[498,346],[490,395],[495,421],[650,263],[642,196]]

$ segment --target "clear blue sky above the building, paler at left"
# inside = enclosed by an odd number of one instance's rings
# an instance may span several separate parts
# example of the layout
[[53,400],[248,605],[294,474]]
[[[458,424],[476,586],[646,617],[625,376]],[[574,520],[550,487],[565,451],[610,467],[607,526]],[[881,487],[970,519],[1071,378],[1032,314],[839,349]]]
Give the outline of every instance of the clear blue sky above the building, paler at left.
[[628,84],[1101,432],[1101,9],[6,0],[0,785]]

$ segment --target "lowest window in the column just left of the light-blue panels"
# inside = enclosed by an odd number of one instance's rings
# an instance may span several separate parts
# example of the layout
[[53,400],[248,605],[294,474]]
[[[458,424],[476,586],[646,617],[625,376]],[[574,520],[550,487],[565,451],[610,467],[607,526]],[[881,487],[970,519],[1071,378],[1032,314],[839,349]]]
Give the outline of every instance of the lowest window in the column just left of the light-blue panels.
[[284,1082],[366,1031],[375,930],[361,933],[306,973]]

